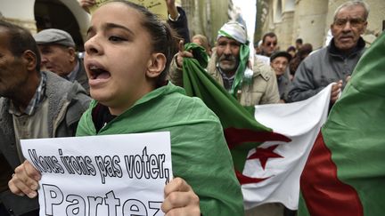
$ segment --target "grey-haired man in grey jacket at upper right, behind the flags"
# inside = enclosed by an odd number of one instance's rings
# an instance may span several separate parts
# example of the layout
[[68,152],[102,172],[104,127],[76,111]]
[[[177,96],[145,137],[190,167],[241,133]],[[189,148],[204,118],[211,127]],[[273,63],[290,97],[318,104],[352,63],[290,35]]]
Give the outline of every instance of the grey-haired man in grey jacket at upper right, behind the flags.
[[331,42],[299,65],[287,101],[306,100],[333,82],[336,84],[332,86],[331,102],[338,99],[365,52],[361,35],[367,27],[368,15],[369,6],[363,1],[349,1],[337,8]]

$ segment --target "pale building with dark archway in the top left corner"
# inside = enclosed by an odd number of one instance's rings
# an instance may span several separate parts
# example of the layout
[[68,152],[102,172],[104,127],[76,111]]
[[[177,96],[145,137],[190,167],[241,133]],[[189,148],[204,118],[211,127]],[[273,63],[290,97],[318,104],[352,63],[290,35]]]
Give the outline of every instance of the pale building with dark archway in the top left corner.
[[83,50],[90,17],[77,0],[1,0],[0,12],[3,19],[29,28],[32,34],[45,28],[68,31]]

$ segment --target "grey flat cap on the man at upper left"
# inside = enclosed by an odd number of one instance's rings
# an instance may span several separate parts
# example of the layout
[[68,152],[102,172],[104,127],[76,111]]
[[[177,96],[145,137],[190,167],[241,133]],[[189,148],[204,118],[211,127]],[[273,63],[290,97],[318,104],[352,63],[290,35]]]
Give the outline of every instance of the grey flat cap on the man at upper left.
[[34,38],[37,44],[60,44],[68,47],[75,47],[72,36],[61,29],[44,29],[38,32]]

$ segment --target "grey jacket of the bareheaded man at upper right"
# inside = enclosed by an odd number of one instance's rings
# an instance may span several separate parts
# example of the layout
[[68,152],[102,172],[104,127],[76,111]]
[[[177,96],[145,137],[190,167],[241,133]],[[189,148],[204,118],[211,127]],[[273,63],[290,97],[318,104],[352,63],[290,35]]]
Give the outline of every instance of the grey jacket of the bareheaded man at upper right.
[[362,38],[359,38],[356,50],[348,56],[343,55],[332,40],[327,47],[307,56],[300,63],[286,101],[306,100],[339,80],[343,81],[343,89],[346,77],[352,74],[364,52],[365,41]]

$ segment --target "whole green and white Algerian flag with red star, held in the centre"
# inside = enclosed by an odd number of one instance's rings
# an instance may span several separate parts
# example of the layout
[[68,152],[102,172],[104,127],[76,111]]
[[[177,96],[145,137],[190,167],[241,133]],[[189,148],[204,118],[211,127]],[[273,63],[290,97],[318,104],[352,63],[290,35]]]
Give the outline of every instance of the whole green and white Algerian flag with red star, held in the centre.
[[280,202],[297,209],[299,175],[327,116],[331,86],[308,100],[243,108],[201,67],[207,65],[203,48],[186,44],[185,50],[195,59],[184,58],[184,89],[219,117],[245,208]]

